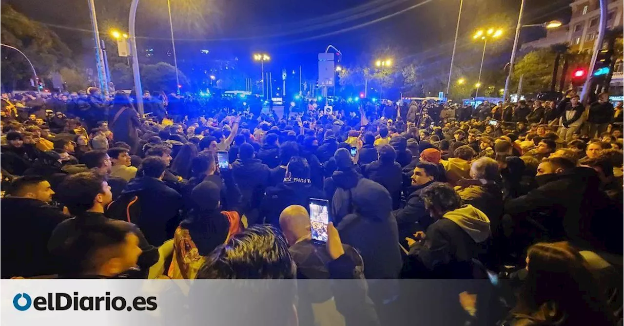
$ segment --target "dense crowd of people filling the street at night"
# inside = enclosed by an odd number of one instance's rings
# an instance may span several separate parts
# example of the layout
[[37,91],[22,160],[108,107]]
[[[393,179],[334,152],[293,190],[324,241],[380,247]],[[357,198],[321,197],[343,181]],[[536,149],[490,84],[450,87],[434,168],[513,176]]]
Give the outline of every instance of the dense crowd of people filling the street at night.
[[[374,280],[509,277],[504,325],[622,323],[624,105],[607,93],[283,117],[144,99],[140,117],[93,87],[1,95],[0,277],[368,280],[334,293],[352,325],[385,325],[405,292]],[[464,321],[488,314],[475,297]]]

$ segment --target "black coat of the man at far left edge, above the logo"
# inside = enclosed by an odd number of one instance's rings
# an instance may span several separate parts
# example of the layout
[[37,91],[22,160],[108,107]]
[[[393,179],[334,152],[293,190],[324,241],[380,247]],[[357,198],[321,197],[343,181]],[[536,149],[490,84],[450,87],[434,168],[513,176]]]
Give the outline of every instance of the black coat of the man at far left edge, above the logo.
[[0,277],[32,277],[58,272],[59,261],[47,250],[54,228],[69,218],[58,208],[30,198],[0,199]]

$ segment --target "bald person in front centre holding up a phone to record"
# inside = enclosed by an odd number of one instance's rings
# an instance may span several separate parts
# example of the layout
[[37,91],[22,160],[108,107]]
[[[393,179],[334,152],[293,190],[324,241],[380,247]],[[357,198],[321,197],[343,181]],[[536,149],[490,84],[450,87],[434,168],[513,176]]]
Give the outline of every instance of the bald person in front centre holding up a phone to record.
[[[288,251],[297,266],[297,279],[355,279],[360,282],[314,283],[298,287],[300,325],[315,325],[314,320],[333,312],[327,308],[318,311],[311,304],[335,297],[336,308],[346,325],[378,325],[373,302],[366,293],[364,263],[353,247],[343,244],[333,223],[326,225],[326,243],[315,244],[311,235],[310,214],[304,206],[291,205],[280,214]],[[327,286],[324,286],[327,285]],[[348,303],[348,304],[346,304]],[[346,305],[345,305],[346,304]]]

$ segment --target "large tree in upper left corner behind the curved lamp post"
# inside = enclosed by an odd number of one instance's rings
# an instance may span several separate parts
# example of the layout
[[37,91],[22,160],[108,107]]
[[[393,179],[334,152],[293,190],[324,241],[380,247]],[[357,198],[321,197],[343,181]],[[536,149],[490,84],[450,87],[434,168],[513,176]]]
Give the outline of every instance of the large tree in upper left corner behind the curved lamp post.
[[[61,67],[75,67],[71,50],[54,32],[7,4],[0,4],[0,42],[22,50],[40,78]],[[24,57],[6,47],[0,47],[0,57],[6,58],[0,61],[0,84],[11,89],[30,87],[32,70]]]

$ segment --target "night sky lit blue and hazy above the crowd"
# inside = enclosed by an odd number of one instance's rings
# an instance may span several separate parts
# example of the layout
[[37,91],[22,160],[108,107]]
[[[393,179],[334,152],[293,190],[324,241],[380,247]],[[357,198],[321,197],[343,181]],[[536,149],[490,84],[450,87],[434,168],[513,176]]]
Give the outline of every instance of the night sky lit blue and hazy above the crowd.
[[[84,50],[90,37],[86,0],[0,0],[36,21],[48,24],[72,49]],[[271,54],[271,67],[303,65],[316,69],[316,55],[333,44],[343,52],[344,65],[371,60],[376,50],[399,49],[403,58],[448,65],[459,0],[171,0],[178,56],[210,49],[223,57],[252,64],[256,51]],[[459,54],[474,50],[470,35],[492,17],[506,17],[509,31],[489,60],[509,60],[514,19],[520,0],[464,1]],[[552,19],[566,21],[569,0],[527,0],[525,24]],[[188,4],[190,3],[190,4]],[[96,0],[100,32],[125,29],[130,0]],[[417,6],[418,5],[418,6]],[[410,8],[416,6],[414,8]],[[403,11],[403,12],[401,12]],[[499,19],[503,21],[504,19]],[[60,27],[59,27],[60,26]],[[137,16],[139,47],[170,47],[165,0],[142,0]],[[522,39],[543,32],[530,29]],[[88,42],[86,42],[88,44]],[[88,50],[88,47],[86,47]],[[89,55],[88,51],[84,51]],[[397,58],[397,59],[403,59]],[[506,59],[505,59],[506,58]],[[475,64],[478,64],[475,62]],[[269,67],[268,69],[271,69]]]

